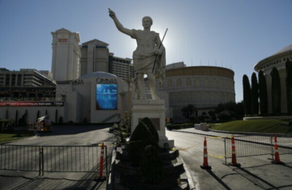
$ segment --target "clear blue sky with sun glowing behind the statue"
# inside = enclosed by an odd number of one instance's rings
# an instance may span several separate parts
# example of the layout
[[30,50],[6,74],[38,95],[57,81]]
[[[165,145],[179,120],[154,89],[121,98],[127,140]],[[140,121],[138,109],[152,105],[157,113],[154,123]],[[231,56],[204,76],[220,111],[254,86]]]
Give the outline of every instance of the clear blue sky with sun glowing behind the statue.
[[161,39],[168,28],[166,65],[232,69],[236,102],[242,76],[292,44],[292,0],[0,0],[0,68],[51,70],[51,32],[60,28],[131,58],[136,41],[116,29],[108,8],[125,28],[143,29],[145,16]]

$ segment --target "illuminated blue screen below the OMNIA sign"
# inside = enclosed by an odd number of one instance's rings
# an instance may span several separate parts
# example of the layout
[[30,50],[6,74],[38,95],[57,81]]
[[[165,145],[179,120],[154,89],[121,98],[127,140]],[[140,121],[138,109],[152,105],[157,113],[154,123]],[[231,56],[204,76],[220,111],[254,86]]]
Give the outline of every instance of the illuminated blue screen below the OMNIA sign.
[[96,84],[96,109],[117,109],[116,84]]

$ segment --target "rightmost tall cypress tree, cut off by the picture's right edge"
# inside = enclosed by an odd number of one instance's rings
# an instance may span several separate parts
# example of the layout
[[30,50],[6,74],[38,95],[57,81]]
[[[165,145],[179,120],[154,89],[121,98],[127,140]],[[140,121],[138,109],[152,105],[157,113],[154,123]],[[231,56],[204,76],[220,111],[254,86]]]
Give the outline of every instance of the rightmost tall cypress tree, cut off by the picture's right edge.
[[292,115],[292,62],[287,58],[286,61],[286,92],[287,92],[287,111],[288,115]]

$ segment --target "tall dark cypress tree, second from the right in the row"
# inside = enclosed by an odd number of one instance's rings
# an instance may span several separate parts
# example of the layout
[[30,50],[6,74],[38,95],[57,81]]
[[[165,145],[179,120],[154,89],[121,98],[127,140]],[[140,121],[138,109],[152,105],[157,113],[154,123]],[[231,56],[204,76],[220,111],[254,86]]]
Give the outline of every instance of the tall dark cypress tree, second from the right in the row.
[[272,76],[272,110],[274,115],[281,113],[281,84],[280,76],[277,68],[273,68]]

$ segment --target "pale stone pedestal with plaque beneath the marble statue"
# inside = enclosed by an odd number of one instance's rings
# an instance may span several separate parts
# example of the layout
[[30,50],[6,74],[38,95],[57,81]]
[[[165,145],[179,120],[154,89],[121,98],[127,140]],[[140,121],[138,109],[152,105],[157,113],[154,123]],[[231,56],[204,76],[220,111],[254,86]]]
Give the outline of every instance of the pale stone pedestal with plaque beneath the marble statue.
[[165,136],[165,112],[164,100],[133,100],[131,133],[133,133],[139,121],[147,117],[152,121],[158,132],[159,145],[163,147],[164,143],[167,142],[170,147],[173,147],[174,140],[168,140]]

